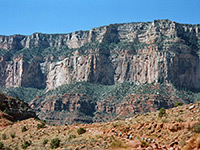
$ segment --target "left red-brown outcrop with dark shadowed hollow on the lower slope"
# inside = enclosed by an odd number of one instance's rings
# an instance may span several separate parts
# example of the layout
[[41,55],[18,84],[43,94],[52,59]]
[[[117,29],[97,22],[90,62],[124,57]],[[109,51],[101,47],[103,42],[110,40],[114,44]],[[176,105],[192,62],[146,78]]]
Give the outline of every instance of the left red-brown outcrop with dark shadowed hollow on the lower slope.
[[[53,124],[74,123],[77,121],[92,123],[95,102],[84,94],[64,94],[62,97],[48,96],[45,101],[37,97],[29,104],[38,113],[38,117]],[[81,114],[83,117],[81,117]],[[59,117],[58,117],[59,116]]]

